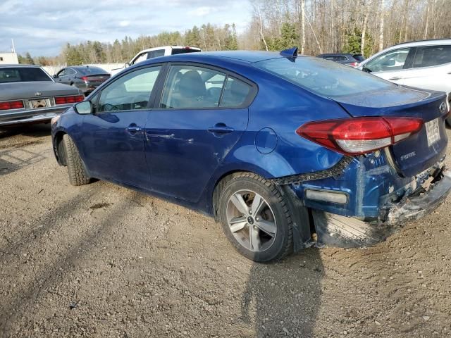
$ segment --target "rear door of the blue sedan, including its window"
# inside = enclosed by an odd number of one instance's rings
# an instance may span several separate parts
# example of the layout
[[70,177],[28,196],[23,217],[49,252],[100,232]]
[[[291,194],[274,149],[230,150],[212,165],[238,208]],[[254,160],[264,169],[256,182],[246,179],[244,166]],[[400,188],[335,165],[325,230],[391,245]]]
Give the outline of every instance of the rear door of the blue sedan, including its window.
[[171,65],[146,127],[152,189],[197,201],[245,131],[253,94],[252,84],[222,70]]

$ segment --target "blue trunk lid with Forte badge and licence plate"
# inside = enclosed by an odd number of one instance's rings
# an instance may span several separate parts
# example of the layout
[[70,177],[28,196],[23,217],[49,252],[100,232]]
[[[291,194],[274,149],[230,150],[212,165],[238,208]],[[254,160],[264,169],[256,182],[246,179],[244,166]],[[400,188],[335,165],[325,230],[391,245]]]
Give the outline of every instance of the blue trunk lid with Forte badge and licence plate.
[[332,98],[352,117],[407,116],[421,118],[425,125],[420,132],[390,146],[393,158],[404,177],[422,173],[446,154],[446,101],[443,92],[396,87],[378,92]]

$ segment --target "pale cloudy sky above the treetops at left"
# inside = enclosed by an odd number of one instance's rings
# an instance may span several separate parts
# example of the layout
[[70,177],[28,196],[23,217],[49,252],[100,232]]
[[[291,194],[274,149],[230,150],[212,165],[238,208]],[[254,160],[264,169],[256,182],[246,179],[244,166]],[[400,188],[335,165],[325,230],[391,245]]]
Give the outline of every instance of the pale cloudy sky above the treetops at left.
[[247,0],[0,0],[0,51],[57,56],[69,42],[184,32],[194,25],[235,23],[245,30]]

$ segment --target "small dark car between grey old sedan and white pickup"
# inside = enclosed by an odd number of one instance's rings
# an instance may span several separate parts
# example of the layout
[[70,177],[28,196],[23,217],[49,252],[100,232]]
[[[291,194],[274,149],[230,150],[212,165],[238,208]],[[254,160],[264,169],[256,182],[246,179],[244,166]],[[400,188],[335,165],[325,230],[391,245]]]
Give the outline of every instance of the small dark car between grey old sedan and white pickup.
[[77,65],[61,69],[54,75],[56,82],[77,87],[87,95],[110,78],[110,74],[99,67]]

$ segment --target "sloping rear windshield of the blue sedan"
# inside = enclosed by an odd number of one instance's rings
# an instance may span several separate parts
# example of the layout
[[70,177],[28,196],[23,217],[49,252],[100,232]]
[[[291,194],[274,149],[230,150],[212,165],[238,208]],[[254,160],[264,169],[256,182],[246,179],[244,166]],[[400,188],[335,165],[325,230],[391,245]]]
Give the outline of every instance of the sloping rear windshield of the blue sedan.
[[273,73],[299,87],[322,96],[336,97],[395,88],[396,84],[382,80],[348,65],[321,58],[273,58],[254,63],[258,68]]

